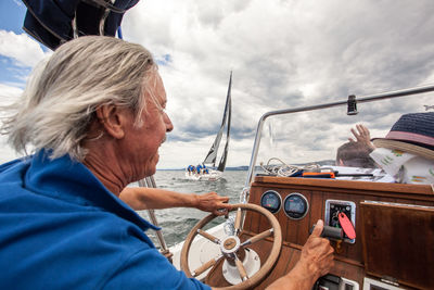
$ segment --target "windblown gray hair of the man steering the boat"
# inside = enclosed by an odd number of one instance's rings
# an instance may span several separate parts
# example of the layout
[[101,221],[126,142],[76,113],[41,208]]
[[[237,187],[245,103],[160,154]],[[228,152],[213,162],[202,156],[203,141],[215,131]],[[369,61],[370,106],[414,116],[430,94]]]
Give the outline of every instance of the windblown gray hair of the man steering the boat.
[[140,45],[113,37],[85,36],[61,46],[34,71],[12,114],[3,121],[9,143],[27,154],[50,150],[50,157],[69,154],[82,161],[80,146],[95,110],[105,104],[131,109],[141,126],[150,87],[150,72],[157,70],[152,54]]

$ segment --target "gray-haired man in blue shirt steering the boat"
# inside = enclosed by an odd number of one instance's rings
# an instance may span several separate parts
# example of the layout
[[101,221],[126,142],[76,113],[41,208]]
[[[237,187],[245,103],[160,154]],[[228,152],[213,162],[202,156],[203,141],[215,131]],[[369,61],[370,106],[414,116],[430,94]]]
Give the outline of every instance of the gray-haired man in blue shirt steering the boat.
[[[2,289],[209,289],[155,250],[143,232],[153,226],[131,207],[215,211],[227,199],[125,190],[155,173],[174,128],[166,102],[151,53],[115,38],[75,39],[36,70],[2,127],[17,151],[35,152],[0,167]],[[329,270],[321,225],[271,287],[309,289]]]

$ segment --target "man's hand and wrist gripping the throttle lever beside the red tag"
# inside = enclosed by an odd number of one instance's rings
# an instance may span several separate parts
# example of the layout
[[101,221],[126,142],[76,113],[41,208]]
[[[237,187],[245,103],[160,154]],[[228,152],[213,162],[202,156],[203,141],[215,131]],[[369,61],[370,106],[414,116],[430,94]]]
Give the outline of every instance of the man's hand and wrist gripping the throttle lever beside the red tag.
[[333,248],[329,240],[320,238],[323,225],[322,220],[318,220],[295,267],[267,290],[310,290],[319,277],[329,273],[333,266]]

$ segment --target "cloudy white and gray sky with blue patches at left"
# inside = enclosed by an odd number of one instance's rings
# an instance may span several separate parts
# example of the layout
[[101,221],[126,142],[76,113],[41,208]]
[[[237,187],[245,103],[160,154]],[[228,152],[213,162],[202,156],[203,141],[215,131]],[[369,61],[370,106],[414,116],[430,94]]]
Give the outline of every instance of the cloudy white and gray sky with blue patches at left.
[[[50,53],[22,30],[24,13],[18,0],[0,2],[2,99],[16,98],[31,67]],[[221,121],[230,71],[228,165],[247,165],[257,121],[267,111],[434,84],[433,30],[432,0],[142,0],[123,22],[124,39],[146,47],[161,64],[175,130],[161,149],[159,168],[204,159]],[[320,159],[318,144],[332,152],[353,124],[363,122],[382,136],[401,113],[433,105],[432,96],[366,106],[353,119],[340,111],[302,114],[276,122],[268,135],[288,135],[284,150],[307,149]],[[327,134],[326,124],[334,124]],[[0,161],[13,156],[2,144]]]

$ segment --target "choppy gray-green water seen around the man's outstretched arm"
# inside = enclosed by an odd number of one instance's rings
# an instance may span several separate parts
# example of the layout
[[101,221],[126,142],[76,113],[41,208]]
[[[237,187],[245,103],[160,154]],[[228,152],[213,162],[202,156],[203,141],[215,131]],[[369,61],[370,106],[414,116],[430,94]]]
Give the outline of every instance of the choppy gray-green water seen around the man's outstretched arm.
[[[181,193],[196,193],[215,191],[220,196],[229,197],[229,203],[238,203],[240,193],[247,178],[246,171],[227,171],[217,181],[193,181],[184,179],[183,171],[157,171],[154,175],[158,188],[173,190]],[[150,220],[146,211],[138,212],[144,219]],[[158,226],[162,227],[163,236],[168,247],[183,241],[191,228],[203,217],[208,215],[196,209],[175,207],[166,210],[155,210]],[[217,225],[224,220],[222,217],[216,218]],[[155,231],[148,230],[146,235],[158,247]]]

